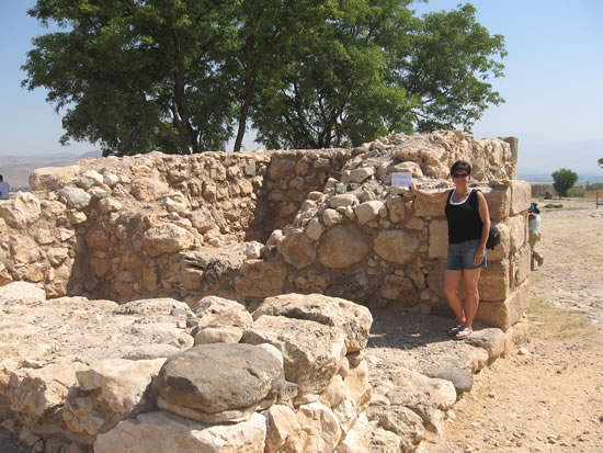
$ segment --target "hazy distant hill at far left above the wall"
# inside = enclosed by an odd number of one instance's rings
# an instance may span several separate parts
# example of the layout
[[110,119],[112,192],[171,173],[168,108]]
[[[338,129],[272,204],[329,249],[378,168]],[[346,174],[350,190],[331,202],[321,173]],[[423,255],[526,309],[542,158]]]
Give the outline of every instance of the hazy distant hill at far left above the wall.
[[34,156],[0,156],[0,174],[11,188],[29,188],[30,174],[36,168],[65,167],[84,158],[101,157],[101,151],[89,151],[83,155],[69,152],[34,155]]

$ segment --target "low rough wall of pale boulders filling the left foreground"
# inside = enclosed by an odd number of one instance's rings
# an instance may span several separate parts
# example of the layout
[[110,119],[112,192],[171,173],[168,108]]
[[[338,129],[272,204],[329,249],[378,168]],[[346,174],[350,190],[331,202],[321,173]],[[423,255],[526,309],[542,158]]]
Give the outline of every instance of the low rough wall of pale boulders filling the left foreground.
[[[35,451],[365,452],[367,308],[0,296],[0,418]],[[43,445],[46,444],[46,450]],[[37,445],[37,446],[36,446]],[[57,450],[58,451],[58,450]]]

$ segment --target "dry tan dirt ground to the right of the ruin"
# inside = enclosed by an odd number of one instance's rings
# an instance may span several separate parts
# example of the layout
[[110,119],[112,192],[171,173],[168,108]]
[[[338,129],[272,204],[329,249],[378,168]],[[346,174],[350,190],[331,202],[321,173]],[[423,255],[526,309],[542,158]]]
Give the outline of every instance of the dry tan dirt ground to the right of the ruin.
[[541,202],[524,354],[497,360],[423,452],[603,452],[603,206]]

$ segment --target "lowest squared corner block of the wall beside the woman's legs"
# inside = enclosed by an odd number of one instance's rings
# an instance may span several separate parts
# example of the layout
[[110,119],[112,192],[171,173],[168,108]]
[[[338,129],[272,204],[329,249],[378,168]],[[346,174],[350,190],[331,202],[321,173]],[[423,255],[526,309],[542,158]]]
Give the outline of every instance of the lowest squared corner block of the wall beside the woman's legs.
[[502,302],[480,302],[476,319],[507,331],[530,307],[530,280],[512,291]]

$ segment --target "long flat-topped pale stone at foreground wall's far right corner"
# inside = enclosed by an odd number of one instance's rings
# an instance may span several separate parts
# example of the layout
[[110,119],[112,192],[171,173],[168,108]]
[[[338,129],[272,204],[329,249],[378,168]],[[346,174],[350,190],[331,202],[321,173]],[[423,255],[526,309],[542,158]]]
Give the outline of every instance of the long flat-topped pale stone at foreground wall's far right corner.
[[340,297],[322,294],[282,294],[268,297],[253,312],[253,319],[263,315],[307,319],[341,329],[348,353],[366,348],[373,325],[368,308]]

